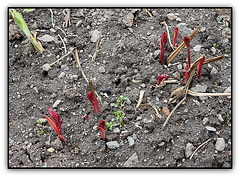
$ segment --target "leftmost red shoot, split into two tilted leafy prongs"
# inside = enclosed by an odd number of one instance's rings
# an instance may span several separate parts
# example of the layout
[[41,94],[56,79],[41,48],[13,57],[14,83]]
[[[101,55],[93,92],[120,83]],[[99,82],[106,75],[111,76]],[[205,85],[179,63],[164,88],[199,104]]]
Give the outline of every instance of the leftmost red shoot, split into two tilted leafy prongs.
[[52,126],[55,132],[58,134],[58,138],[65,143],[65,140],[62,135],[62,127],[61,127],[61,118],[60,115],[57,114],[53,109],[48,106],[48,110],[52,119],[48,116],[44,115],[48,121],[48,123]]

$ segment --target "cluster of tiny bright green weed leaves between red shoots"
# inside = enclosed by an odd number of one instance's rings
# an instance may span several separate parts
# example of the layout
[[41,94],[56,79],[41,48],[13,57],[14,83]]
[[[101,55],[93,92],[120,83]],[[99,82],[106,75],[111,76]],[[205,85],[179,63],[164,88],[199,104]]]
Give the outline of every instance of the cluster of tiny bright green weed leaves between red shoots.
[[108,126],[109,130],[112,130],[113,127],[116,126],[122,126],[122,120],[125,116],[124,109],[124,101],[127,99],[127,97],[120,96],[117,99],[117,103],[115,103],[114,107],[118,108],[117,111],[114,111],[115,118],[112,118],[110,122],[106,122],[106,125]]

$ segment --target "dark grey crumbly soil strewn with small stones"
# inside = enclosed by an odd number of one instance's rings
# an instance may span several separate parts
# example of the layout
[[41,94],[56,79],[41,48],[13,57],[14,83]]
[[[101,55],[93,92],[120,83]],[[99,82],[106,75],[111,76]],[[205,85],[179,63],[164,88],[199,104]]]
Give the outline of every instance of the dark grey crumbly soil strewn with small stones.
[[[171,111],[180,101],[167,104],[171,92],[184,86],[187,49],[168,66],[159,63],[158,51],[160,37],[166,30],[161,24],[164,20],[171,41],[178,25],[178,45],[198,28],[200,32],[191,40],[192,63],[200,54],[206,58],[223,54],[229,57],[204,65],[201,78],[195,74],[190,89],[204,86],[207,93],[231,90],[231,8],[221,9],[225,15],[215,8],[149,8],[152,17],[143,8],[72,8],[71,25],[67,27],[63,27],[64,8],[51,9],[52,15],[47,8],[17,10],[30,31],[38,32],[38,38],[50,35],[54,39],[42,40],[45,52],[37,53],[9,15],[9,168],[232,167],[231,98],[188,95],[162,129],[166,119],[162,108]],[[171,13],[177,13],[178,18]],[[99,34],[99,51],[92,61]],[[83,71],[88,79],[92,78],[101,97],[101,113],[93,113],[87,99],[88,85],[73,54],[48,72],[41,68],[65,55],[60,37],[67,52],[77,47]],[[194,48],[197,45],[201,46],[200,51]],[[172,51],[168,43],[165,59]],[[177,83],[155,88],[161,74],[168,74]],[[107,95],[103,93],[106,89],[110,90]],[[152,119],[144,107],[135,109],[141,90],[159,109],[160,120]],[[114,132],[106,127],[106,139],[102,140],[99,120],[109,122],[114,118],[117,109],[113,103],[119,96],[128,98],[122,126],[115,127],[118,129]],[[53,108],[57,100],[61,102],[54,110],[61,116],[65,144],[44,121],[44,115],[50,116],[48,106]],[[47,127],[38,126],[37,120]],[[216,131],[209,131],[206,126]],[[189,159],[187,154],[209,138],[213,139]],[[218,139],[224,140],[223,150],[216,147]],[[111,141],[116,141],[114,147],[107,145]],[[190,150],[187,144],[191,144]]]

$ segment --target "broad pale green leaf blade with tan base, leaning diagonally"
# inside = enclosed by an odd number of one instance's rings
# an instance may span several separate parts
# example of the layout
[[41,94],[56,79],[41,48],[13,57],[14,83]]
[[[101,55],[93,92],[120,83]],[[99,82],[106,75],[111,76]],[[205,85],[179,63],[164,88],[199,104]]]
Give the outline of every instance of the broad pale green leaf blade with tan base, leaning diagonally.
[[36,40],[36,33],[34,37],[32,36],[31,32],[28,29],[27,24],[25,23],[24,19],[22,18],[22,15],[17,12],[15,9],[9,9],[10,15],[13,17],[14,21],[17,23],[18,27],[23,31],[23,33],[28,37],[28,39],[33,44],[34,48],[40,52],[43,53],[44,48],[42,47],[41,43]]

